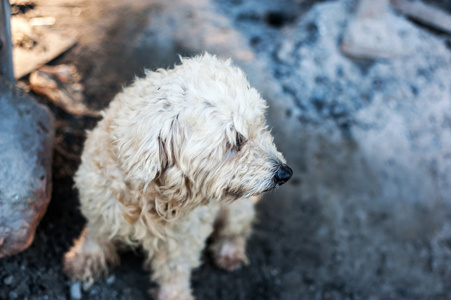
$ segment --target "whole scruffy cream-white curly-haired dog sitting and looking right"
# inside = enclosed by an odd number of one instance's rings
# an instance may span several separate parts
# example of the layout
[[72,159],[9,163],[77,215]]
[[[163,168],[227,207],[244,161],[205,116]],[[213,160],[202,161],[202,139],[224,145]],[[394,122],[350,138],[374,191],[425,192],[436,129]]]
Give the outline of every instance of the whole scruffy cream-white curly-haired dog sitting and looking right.
[[227,270],[247,263],[254,202],[291,177],[266,130],[266,104],[230,61],[208,54],[147,72],[88,134],[75,176],[88,223],[65,256],[86,280],[141,246],[158,299],[192,299],[206,239]]

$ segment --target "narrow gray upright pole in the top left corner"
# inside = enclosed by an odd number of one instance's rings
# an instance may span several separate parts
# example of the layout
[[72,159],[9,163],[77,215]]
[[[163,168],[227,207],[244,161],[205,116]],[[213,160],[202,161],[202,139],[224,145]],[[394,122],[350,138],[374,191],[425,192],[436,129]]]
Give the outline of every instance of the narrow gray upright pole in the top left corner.
[[0,75],[14,82],[11,42],[11,7],[9,0],[0,0]]

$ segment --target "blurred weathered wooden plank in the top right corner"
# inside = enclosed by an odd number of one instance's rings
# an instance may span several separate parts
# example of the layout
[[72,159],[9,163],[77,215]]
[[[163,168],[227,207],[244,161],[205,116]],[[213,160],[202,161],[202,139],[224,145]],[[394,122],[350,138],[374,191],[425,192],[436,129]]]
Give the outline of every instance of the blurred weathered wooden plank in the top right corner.
[[391,0],[391,3],[402,14],[435,29],[451,33],[451,15],[443,10],[417,0]]

